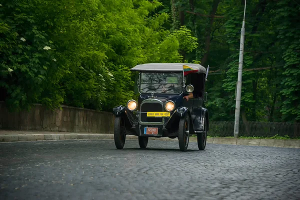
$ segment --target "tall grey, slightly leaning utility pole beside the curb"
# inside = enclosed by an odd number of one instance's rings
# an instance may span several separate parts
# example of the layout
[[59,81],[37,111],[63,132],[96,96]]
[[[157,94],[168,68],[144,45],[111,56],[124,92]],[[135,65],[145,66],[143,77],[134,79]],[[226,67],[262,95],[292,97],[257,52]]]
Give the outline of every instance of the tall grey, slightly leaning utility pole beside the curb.
[[245,40],[245,12],[246,12],[246,0],[244,6],[242,27],[240,30],[238,76],[237,76],[237,87],[236,87],[235,118],[234,118],[234,132],[233,132],[234,137],[238,137],[240,96],[241,96],[241,74],[242,74],[242,62],[243,62],[243,48],[244,48],[244,40]]

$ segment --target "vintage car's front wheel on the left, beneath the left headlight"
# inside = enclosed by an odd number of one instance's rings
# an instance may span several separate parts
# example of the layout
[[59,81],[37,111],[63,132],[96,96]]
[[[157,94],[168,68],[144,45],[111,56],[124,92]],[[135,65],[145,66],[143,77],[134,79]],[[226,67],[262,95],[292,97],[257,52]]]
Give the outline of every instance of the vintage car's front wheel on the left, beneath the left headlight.
[[122,149],[124,147],[125,139],[126,139],[125,133],[126,133],[126,128],[125,128],[124,119],[120,116],[115,117],[113,138],[114,138],[115,147],[117,149]]

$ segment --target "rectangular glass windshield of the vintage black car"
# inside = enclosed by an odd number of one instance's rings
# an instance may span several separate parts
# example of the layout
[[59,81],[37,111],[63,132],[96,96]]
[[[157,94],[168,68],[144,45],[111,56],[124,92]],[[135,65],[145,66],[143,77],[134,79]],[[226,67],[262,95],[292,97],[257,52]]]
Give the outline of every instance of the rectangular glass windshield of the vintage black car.
[[181,93],[182,73],[166,72],[141,72],[141,93]]

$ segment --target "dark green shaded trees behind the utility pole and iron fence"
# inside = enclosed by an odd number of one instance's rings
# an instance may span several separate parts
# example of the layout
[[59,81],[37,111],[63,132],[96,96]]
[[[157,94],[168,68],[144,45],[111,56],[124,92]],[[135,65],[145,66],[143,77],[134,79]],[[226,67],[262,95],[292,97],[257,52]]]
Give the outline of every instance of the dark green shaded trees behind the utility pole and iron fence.
[[[233,120],[244,1],[161,2],[160,12],[174,16],[165,27],[184,24],[197,37],[199,45],[185,53],[185,59],[201,60],[205,67],[209,64],[206,106],[211,120]],[[242,121],[299,121],[300,4],[247,1],[245,21]]]

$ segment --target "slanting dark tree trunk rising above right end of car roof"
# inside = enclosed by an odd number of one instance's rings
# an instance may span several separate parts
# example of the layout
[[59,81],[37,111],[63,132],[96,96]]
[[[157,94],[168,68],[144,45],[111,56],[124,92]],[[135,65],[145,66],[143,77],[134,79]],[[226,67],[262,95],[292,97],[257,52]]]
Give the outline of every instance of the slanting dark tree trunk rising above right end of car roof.
[[[216,9],[217,9],[217,6],[218,6],[219,2],[220,2],[220,0],[213,0],[212,9],[211,9],[211,12],[210,12],[211,16],[215,15],[215,12],[216,12]],[[214,17],[209,18],[209,23],[208,23],[208,25],[206,26],[206,29],[205,29],[206,38],[205,38],[204,55],[201,59],[201,65],[204,65],[207,61],[207,58],[208,58],[209,47],[210,47],[210,34],[211,34],[211,27],[212,27],[213,19],[214,19]]]

